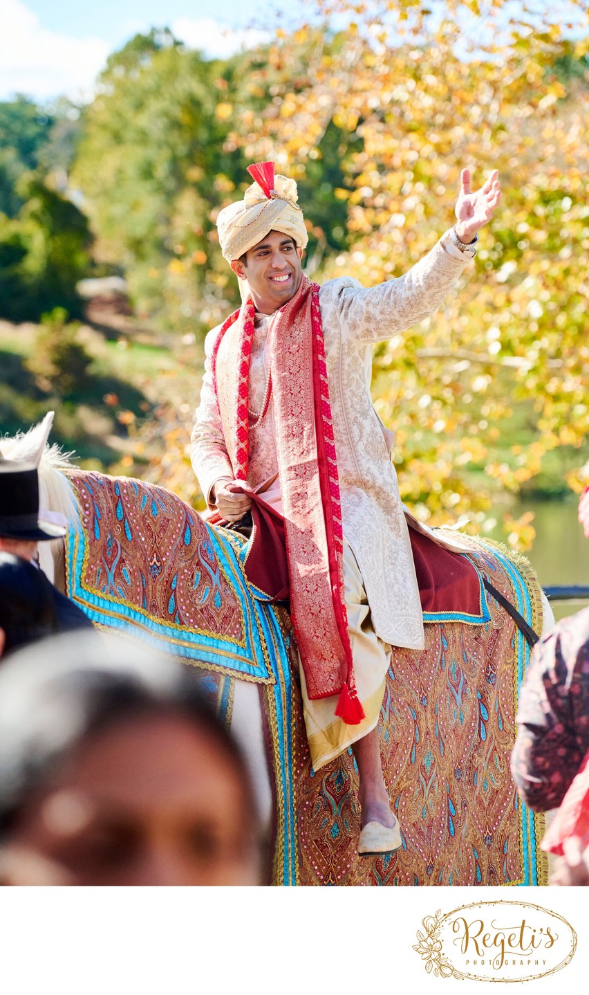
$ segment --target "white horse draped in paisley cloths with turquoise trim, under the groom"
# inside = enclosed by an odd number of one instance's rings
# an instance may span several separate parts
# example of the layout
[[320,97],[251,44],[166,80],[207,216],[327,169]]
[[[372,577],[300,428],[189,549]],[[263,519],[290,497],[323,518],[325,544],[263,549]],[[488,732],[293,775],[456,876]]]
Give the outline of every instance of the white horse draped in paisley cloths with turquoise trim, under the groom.
[[529,646],[503,604],[536,632],[551,616],[529,564],[469,538],[481,619],[427,618],[423,651],[393,648],[378,728],[403,848],[360,856],[353,752],[311,768],[291,621],[248,581],[247,540],[163,488],[77,469],[47,434],[0,446],[38,464],[42,506],[67,520],[65,541],[42,544],[42,568],[99,628],[192,669],[246,753],[274,884],[546,883],[542,817],[509,774]]

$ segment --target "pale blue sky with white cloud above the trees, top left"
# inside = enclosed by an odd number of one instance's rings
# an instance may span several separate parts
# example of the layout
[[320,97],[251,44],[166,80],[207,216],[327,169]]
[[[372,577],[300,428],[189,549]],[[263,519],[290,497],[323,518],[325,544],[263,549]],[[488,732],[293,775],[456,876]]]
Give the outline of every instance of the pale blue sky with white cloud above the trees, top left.
[[107,55],[152,26],[171,28],[207,55],[229,55],[263,40],[277,10],[292,14],[300,2],[0,0],[0,100],[89,99]]

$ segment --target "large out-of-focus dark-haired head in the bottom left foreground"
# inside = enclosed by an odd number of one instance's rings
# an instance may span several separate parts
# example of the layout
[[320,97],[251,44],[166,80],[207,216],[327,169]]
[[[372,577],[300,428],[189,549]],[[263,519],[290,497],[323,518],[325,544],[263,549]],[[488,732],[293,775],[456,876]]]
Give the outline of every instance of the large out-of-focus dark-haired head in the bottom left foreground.
[[98,634],[0,669],[7,885],[256,885],[242,754],[186,665]]

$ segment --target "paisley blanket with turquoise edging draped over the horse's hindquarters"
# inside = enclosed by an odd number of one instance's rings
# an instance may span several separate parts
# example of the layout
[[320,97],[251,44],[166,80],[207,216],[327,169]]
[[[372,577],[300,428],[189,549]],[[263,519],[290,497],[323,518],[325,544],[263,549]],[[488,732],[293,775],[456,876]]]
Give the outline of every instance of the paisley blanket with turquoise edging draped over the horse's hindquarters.
[[[493,587],[537,625],[541,607],[525,566],[475,540],[471,555]],[[488,600],[488,625],[430,623],[421,653],[392,651],[379,732],[385,782],[402,827],[397,854],[356,854],[360,813],[351,751],[313,774],[304,724],[297,721],[300,884],[546,884],[543,820],[520,803],[509,775],[529,649],[512,619]]]

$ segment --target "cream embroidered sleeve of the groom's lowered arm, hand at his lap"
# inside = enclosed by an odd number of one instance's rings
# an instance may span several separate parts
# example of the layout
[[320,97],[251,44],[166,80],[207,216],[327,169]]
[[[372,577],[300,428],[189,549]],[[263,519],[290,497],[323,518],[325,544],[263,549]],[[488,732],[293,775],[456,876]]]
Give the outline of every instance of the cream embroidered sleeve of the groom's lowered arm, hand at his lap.
[[219,407],[213,387],[211,353],[217,329],[209,332],[205,339],[205,375],[203,378],[200,405],[196,409],[194,428],[190,437],[190,460],[200,489],[209,507],[211,490],[221,477],[233,480],[234,474],[225,444]]

